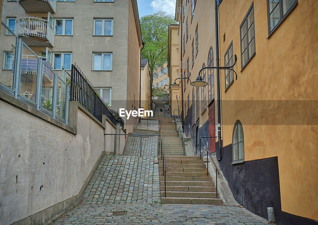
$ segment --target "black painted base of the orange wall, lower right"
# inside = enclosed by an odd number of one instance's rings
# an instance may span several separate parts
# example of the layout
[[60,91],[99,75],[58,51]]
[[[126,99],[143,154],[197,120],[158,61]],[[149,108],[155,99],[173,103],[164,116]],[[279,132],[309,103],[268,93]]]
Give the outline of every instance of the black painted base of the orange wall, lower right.
[[281,211],[277,156],[231,163],[232,144],[223,147],[219,164],[235,200],[247,210],[267,219],[267,207],[273,207],[278,225],[318,224],[317,221]]

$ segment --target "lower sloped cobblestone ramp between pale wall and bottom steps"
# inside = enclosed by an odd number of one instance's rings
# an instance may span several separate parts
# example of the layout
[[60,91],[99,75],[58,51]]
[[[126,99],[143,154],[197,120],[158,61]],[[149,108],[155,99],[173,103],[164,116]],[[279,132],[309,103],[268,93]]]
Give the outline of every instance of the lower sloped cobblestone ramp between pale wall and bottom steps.
[[158,202],[158,164],[154,157],[104,156],[83,200],[87,204]]

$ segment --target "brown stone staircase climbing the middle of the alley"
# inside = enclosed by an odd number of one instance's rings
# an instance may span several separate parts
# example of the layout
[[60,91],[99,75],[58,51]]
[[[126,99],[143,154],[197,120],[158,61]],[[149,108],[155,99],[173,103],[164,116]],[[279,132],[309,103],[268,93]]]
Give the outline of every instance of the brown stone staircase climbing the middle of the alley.
[[[200,156],[184,156],[181,137],[177,136],[173,119],[160,119],[160,134],[166,163],[166,196],[164,168],[159,159],[161,202],[183,204],[222,204],[216,187],[207,174]],[[160,148],[159,148],[160,150]],[[160,155],[160,154],[159,154]]]

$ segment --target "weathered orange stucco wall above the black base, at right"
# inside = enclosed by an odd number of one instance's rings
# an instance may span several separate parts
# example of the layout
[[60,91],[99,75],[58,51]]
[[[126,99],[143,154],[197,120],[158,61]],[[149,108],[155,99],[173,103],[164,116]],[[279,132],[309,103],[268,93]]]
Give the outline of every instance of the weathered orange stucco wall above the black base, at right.
[[245,161],[278,157],[281,210],[318,220],[318,4],[299,0],[268,37],[266,1],[254,1],[256,53],[242,69],[239,27],[252,3],[219,5],[220,65],[232,40],[238,57],[238,79],[234,75],[226,91],[220,73],[223,146],[232,143],[234,123],[240,120]]

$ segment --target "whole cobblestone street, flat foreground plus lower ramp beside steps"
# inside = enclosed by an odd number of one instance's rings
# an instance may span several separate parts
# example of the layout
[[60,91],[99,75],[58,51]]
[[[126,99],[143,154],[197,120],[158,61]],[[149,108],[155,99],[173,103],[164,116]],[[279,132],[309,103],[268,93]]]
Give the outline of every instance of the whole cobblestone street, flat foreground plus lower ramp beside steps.
[[82,202],[51,224],[267,224],[235,206],[161,204],[154,159],[104,156]]

